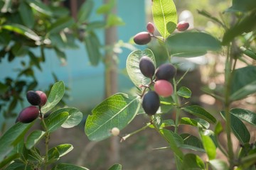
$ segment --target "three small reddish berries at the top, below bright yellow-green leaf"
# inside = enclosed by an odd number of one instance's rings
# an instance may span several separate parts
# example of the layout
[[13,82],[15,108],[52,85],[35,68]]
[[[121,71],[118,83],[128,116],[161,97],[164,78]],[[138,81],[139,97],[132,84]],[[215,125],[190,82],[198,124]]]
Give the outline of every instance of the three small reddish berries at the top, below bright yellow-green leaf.
[[[178,31],[184,31],[187,30],[189,27],[189,23],[186,21],[181,21],[177,24],[177,30]],[[146,45],[151,41],[151,37],[154,36],[154,24],[153,23],[147,23],[146,25],[147,31],[142,31],[140,33],[137,33],[137,35],[134,35],[134,42],[137,45]]]

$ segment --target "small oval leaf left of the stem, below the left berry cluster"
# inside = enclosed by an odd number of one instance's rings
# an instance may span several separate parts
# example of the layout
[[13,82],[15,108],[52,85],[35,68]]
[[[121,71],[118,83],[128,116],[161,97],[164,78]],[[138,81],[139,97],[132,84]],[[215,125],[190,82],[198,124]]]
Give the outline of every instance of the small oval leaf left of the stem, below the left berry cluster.
[[34,147],[44,136],[46,135],[46,132],[42,130],[34,130],[31,132],[30,135],[28,135],[26,140],[26,148],[31,149]]

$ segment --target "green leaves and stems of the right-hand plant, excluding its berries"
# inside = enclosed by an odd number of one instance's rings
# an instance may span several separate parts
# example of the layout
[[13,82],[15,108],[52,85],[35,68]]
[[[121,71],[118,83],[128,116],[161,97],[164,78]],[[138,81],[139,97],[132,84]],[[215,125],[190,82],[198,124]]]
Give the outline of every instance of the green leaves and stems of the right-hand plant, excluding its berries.
[[[219,19],[210,16],[206,11],[199,11],[201,15],[206,16],[225,30],[223,38],[218,39],[198,30],[189,30],[183,33],[174,32],[177,14],[173,1],[152,1],[152,16],[161,36],[152,33],[151,37],[156,38],[161,47],[166,50],[169,55],[169,60],[166,62],[171,62],[173,56],[196,57],[209,51],[225,53],[225,69],[223,70],[225,82],[223,87],[220,88],[220,91],[208,91],[208,94],[223,103],[223,110],[220,111],[223,119],[218,119],[217,113],[209,113],[201,106],[191,106],[186,103],[186,98],[193,97],[191,95],[193,92],[191,93],[190,89],[185,86],[180,88],[178,86],[183,77],[188,76],[188,72],[180,79],[172,79],[174,94],[170,98],[161,98],[159,111],[155,115],[149,116],[149,123],[129,135],[119,136],[121,141],[127,140],[137,132],[150,127],[159,132],[159,135],[166,140],[169,148],[174,152],[176,169],[234,169],[235,166],[237,169],[255,169],[255,144],[250,144],[252,140],[250,131],[247,130],[247,125],[244,122],[255,125],[256,113],[243,108],[232,108],[231,105],[234,101],[247,98],[256,92],[255,66],[247,63],[245,67],[236,67],[238,60],[245,61],[243,60],[245,55],[255,60],[253,45],[255,45],[256,32],[255,22],[252,22],[255,21],[255,11],[254,0],[242,2],[233,0],[233,6],[223,14],[232,15],[235,18],[230,23],[224,22],[223,16]],[[151,58],[156,66],[159,56],[154,55],[149,49],[133,51],[127,57],[127,73],[134,86],[137,87],[137,94],[139,95],[134,97],[130,94],[115,94],[93,109],[92,115],[85,124],[85,134],[90,140],[104,140],[111,135],[112,128],[122,130],[133,118],[136,118],[135,115],[143,111],[142,98],[146,91],[153,88],[151,85],[154,84],[154,79],[144,77],[139,69],[139,60],[144,56]],[[117,99],[117,96],[120,95],[126,97]],[[128,101],[136,100],[136,102],[127,102],[128,98]],[[174,120],[164,120],[163,115],[170,114],[169,111],[176,113]],[[193,115],[193,118],[181,117],[181,112],[189,113]],[[126,113],[129,113],[129,116]],[[114,118],[115,116],[118,118]],[[223,121],[224,126],[220,123]],[[180,133],[178,131],[179,125],[184,124],[191,125],[198,130],[198,136]],[[170,126],[174,127],[174,130],[170,130]],[[221,133],[225,133],[227,137],[227,148],[219,141],[218,136]],[[232,133],[242,145],[240,152],[233,151]],[[217,159],[217,148],[227,157],[228,162]],[[191,149],[196,153],[185,154],[183,149]],[[208,156],[207,161],[203,162],[197,152],[205,152]]]

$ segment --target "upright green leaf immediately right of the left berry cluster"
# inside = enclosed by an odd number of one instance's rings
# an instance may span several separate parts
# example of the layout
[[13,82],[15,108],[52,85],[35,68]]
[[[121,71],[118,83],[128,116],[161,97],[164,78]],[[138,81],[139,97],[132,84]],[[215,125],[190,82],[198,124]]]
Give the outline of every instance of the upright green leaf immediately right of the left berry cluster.
[[50,94],[47,98],[46,105],[41,108],[42,113],[46,113],[50,111],[50,109],[54,108],[61,98],[63,98],[65,93],[65,85],[63,81],[58,81],[53,84],[52,88],[50,89]]

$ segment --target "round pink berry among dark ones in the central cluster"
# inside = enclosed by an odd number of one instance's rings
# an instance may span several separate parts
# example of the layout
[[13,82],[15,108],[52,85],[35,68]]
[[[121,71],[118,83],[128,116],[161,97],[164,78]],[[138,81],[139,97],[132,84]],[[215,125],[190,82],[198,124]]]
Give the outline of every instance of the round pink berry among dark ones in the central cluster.
[[163,97],[169,97],[174,92],[174,87],[171,85],[169,81],[164,79],[158,80],[154,84],[154,90],[156,94]]

